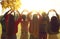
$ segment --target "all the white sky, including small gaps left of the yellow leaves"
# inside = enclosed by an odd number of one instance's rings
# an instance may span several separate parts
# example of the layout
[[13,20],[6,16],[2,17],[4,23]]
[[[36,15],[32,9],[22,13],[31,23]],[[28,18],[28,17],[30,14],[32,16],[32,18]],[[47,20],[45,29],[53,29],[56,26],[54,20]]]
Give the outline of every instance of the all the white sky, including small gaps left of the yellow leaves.
[[[60,13],[60,0],[21,0],[22,6],[19,11],[23,9],[31,10],[44,10],[48,12],[50,9],[55,9],[58,14]],[[7,11],[6,9],[4,13]],[[2,14],[2,7],[0,4],[0,15]]]

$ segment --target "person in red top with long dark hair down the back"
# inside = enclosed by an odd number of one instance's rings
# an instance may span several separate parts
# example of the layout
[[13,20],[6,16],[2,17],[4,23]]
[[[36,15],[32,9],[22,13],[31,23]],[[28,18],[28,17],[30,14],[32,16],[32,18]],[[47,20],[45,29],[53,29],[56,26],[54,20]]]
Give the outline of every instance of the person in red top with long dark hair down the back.
[[7,39],[17,39],[16,33],[18,32],[18,24],[20,20],[15,20],[15,16],[12,12],[14,13],[14,11],[11,11],[5,17]]

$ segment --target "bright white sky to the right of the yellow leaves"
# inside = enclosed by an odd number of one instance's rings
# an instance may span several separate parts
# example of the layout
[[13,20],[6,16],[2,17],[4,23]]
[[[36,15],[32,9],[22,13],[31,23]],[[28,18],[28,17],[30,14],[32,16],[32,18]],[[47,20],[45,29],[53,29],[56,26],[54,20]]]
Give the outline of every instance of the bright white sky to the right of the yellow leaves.
[[22,5],[28,9],[36,10],[48,10],[48,9],[59,9],[60,1],[59,0],[21,0]]

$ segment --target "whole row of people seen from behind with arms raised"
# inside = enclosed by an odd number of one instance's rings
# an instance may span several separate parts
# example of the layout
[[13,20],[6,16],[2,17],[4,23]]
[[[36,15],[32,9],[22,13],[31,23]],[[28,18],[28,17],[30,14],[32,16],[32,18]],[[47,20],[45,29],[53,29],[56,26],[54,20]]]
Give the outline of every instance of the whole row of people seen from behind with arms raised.
[[[50,20],[48,14],[51,11],[54,11],[56,16],[53,16]],[[30,33],[29,39],[47,39],[47,33],[59,33],[59,15],[54,9],[49,10],[49,12],[48,14],[46,12],[42,12],[42,14],[40,12],[28,12],[25,15],[20,14],[19,11],[9,10],[0,21],[2,24],[1,39],[17,39],[16,33],[19,23],[21,23],[20,39],[28,39],[28,32]]]

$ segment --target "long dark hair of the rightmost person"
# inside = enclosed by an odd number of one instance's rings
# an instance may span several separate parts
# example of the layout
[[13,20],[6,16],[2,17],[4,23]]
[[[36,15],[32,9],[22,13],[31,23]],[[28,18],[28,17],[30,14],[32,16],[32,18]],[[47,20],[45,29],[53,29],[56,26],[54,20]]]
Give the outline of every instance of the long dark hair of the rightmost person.
[[51,30],[53,32],[58,32],[58,30],[59,30],[59,22],[58,22],[58,18],[56,16],[53,16],[51,18]]

